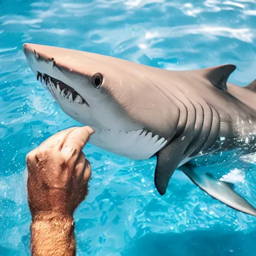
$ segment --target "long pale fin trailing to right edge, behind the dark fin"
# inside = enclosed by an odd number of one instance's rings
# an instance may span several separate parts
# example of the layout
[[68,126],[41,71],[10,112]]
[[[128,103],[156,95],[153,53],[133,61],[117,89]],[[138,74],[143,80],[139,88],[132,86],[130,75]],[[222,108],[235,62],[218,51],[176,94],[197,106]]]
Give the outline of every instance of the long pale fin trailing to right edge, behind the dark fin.
[[221,181],[209,173],[197,174],[188,164],[180,166],[179,169],[181,169],[196,185],[215,199],[238,211],[256,216],[256,209],[247,200],[235,192],[233,190],[233,185],[229,182]]

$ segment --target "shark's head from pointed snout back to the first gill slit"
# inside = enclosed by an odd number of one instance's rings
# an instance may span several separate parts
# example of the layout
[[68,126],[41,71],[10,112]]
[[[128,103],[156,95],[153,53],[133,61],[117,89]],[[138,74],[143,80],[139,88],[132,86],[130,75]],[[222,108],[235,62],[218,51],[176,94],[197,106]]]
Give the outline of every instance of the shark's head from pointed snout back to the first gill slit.
[[146,76],[150,67],[39,44],[25,43],[23,50],[37,80],[61,109],[95,130],[92,144],[146,159],[173,135],[178,109]]

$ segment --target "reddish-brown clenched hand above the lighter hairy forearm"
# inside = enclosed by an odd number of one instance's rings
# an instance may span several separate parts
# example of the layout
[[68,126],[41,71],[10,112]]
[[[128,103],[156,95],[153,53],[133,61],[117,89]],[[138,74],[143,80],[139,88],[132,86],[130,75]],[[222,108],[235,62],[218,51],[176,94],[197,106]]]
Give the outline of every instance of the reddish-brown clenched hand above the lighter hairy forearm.
[[86,197],[91,168],[81,150],[93,132],[89,126],[62,130],[26,155],[32,218],[41,213],[72,216]]

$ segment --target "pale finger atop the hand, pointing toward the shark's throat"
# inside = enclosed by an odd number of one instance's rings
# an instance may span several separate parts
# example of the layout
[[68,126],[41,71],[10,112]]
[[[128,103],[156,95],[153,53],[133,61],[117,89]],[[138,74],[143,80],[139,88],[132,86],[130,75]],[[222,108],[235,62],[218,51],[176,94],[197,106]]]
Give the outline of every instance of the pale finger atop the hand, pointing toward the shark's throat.
[[[70,152],[70,148],[75,149],[76,157],[79,155],[81,149],[84,147],[94,130],[89,126],[77,127],[70,131],[65,138],[61,152],[66,154]],[[67,154],[66,154],[67,155]]]

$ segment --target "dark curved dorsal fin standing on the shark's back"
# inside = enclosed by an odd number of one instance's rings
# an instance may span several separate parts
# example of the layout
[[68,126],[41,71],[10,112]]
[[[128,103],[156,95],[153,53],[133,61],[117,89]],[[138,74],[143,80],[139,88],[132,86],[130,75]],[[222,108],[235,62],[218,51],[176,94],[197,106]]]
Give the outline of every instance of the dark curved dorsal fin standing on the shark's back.
[[227,90],[226,80],[235,68],[235,65],[226,64],[204,68],[202,70],[204,72],[204,77],[207,78],[212,83],[212,85],[225,91]]

